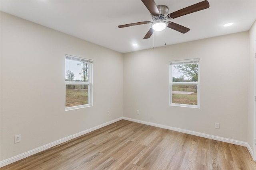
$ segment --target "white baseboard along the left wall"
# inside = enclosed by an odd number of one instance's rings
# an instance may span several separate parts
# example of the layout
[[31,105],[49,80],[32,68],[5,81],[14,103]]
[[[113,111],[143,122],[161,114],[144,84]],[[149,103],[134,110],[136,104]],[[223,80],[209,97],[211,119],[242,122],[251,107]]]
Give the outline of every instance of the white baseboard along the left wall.
[[79,136],[84,135],[84,134],[86,134],[86,133],[89,133],[89,132],[91,132],[91,131],[100,129],[100,128],[106,126],[106,125],[110,125],[110,124],[115,123],[116,121],[120,121],[120,120],[122,120],[122,117],[119,117],[119,118],[114,119],[114,120],[112,120],[112,121],[108,121],[108,122],[103,123],[103,124],[101,124],[101,125],[92,127],[92,128],[90,128],[90,129],[87,129],[87,130],[82,131],[82,132],[79,132],[79,133],[76,133],[76,134],[74,134],[74,135],[70,135],[70,136],[68,136],[68,137],[64,137],[64,138],[62,138],[62,139],[60,139],[60,140],[58,140],[58,141],[54,141],[54,142],[52,142],[52,143],[48,143],[48,144],[46,144],[46,145],[44,145],[44,146],[42,146],[42,147],[38,147],[38,148],[33,149],[33,150],[30,150],[30,151],[28,151],[28,152],[24,152],[24,153],[22,153],[22,154],[19,154],[19,155],[17,155],[17,156],[12,157],[12,158],[8,158],[8,159],[6,159],[6,160],[2,160],[2,161],[0,162],[0,167],[6,166],[6,165],[11,164],[11,163],[13,163],[13,162],[16,162],[16,161],[18,161],[18,160],[21,160],[21,159],[23,159],[23,158],[26,158],[26,157],[28,157],[28,156],[31,156],[32,154],[36,154],[36,153],[41,152],[41,151],[43,151],[43,150],[49,149],[49,148],[51,148],[51,147],[54,147],[54,146],[56,146],[56,145],[59,145],[59,144],[61,144],[61,143],[64,143],[64,142],[69,141],[69,140],[71,140],[71,139],[74,139],[74,138],[76,138],[76,137],[79,137]]

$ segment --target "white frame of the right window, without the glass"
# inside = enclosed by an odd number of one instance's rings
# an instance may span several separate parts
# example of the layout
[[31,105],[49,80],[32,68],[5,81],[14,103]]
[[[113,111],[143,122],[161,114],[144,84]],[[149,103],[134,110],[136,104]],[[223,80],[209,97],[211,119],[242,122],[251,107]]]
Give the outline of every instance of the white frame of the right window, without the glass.
[[[198,81],[197,82],[172,82],[172,66],[179,64],[198,64]],[[172,103],[172,85],[197,85],[197,105],[174,104]],[[200,59],[188,59],[169,61],[169,106],[182,106],[200,108]]]

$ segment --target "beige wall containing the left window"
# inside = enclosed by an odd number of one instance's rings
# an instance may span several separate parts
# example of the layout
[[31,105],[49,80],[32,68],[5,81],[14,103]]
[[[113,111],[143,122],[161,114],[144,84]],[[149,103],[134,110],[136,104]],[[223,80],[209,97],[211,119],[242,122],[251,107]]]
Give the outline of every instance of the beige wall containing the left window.
[[[0,17],[1,161],[122,117],[121,53],[3,12]],[[65,54],[94,60],[93,107],[64,111]],[[18,134],[22,142],[14,144]]]

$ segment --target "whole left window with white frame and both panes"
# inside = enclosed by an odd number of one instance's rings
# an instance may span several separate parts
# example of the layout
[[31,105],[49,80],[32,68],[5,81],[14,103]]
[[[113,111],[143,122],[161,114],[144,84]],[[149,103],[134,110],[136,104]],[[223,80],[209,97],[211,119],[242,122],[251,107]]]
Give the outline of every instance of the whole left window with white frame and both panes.
[[92,60],[66,55],[65,110],[92,106]]

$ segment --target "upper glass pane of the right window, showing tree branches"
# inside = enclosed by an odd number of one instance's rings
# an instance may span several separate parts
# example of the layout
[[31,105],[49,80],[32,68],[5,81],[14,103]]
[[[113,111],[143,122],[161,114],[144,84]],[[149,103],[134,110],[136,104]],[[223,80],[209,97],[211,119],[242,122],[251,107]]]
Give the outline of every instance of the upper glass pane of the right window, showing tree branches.
[[197,82],[198,64],[172,65],[172,82]]

